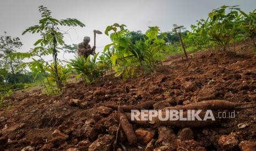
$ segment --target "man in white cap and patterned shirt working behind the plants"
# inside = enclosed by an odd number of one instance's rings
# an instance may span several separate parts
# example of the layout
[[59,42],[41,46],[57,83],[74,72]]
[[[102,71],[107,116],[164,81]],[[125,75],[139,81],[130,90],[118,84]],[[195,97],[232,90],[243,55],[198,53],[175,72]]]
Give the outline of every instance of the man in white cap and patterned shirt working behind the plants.
[[78,44],[78,56],[84,56],[86,59],[90,54],[94,55],[95,46],[91,48],[89,45],[90,37],[84,37],[84,42]]

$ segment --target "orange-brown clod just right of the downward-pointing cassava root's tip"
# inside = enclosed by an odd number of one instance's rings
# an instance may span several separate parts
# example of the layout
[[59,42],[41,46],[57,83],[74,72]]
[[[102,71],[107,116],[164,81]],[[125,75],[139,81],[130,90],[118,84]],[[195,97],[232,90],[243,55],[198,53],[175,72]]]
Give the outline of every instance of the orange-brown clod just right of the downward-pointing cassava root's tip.
[[138,140],[144,144],[148,144],[155,136],[155,130],[139,128],[135,131]]

